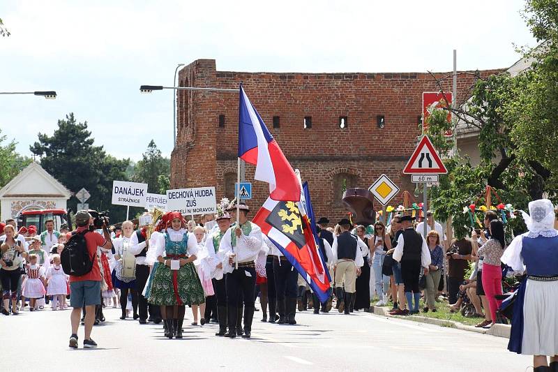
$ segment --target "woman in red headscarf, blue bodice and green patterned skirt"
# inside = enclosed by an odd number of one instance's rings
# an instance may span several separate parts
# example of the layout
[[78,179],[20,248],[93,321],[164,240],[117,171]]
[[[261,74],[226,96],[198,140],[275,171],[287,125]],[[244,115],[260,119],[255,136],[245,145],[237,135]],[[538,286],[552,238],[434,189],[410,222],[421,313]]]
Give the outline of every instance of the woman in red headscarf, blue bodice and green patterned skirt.
[[158,230],[149,250],[148,260],[158,262],[149,292],[149,303],[161,306],[165,313],[165,336],[182,338],[182,323],[186,304],[202,304],[204,289],[197,276],[193,261],[198,253],[197,241],[188,233],[186,221],[179,212],[167,212],[158,224]]

